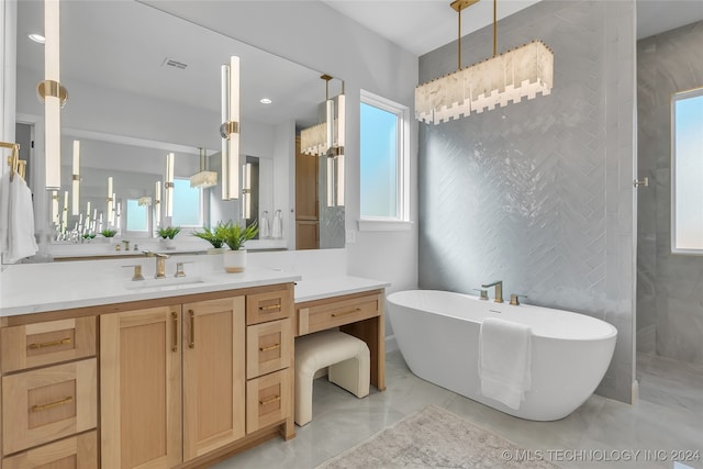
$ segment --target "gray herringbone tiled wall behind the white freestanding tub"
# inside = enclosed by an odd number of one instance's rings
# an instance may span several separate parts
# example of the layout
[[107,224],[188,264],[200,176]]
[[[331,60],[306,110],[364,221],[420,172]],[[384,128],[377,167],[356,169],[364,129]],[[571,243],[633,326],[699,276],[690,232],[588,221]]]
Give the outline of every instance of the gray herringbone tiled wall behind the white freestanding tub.
[[[500,7],[500,2],[499,2]],[[503,280],[527,302],[618,330],[599,388],[629,402],[634,322],[634,2],[543,1],[498,25],[499,52],[543,40],[553,93],[420,124],[420,284],[471,292]],[[492,27],[462,40],[492,53]],[[456,43],[421,57],[420,81],[456,68]]]

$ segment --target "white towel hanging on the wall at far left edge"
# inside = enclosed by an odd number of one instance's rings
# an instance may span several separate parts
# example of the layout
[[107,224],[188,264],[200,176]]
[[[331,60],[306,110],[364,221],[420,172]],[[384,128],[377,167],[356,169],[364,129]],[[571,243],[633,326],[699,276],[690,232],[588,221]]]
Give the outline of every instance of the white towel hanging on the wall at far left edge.
[[32,191],[19,174],[11,181],[7,171],[0,177],[0,253],[15,263],[36,250]]

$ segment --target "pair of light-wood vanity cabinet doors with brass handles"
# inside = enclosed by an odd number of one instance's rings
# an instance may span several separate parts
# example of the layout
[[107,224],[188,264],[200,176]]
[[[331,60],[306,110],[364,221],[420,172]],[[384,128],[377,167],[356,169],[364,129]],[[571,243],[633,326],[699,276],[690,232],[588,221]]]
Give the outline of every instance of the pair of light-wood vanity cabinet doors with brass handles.
[[175,467],[244,436],[244,304],[101,316],[104,469]]

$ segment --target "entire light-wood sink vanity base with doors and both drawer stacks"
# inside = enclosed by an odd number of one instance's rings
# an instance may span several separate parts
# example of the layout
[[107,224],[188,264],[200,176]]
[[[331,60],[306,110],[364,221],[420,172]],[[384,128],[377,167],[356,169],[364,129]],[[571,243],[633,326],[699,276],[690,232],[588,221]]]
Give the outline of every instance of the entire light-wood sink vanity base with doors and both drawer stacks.
[[0,469],[201,468],[291,438],[293,335],[290,282],[4,319]]

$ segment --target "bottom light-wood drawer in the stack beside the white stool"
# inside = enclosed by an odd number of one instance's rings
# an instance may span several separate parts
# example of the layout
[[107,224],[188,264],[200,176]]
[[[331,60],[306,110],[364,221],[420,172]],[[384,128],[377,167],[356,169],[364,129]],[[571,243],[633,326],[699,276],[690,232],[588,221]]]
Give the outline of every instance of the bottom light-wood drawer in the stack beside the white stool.
[[246,433],[272,425],[292,415],[291,368],[246,383]]

